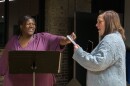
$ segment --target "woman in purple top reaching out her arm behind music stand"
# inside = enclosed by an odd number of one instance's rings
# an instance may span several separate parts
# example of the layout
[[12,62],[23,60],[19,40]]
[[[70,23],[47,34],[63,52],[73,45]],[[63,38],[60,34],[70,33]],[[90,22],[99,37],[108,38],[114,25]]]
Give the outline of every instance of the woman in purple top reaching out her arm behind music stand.
[[[19,21],[20,34],[13,36],[3,51],[0,58],[0,75],[4,76],[3,86],[33,86],[32,74],[9,74],[8,51],[34,50],[34,51],[62,51],[63,46],[71,43],[66,37],[52,35],[50,33],[34,34],[35,20],[30,16],[24,16]],[[76,38],[72,33],[71,37]],[[55,77],[53,74],[36,74],[36,86],[53,86]]]

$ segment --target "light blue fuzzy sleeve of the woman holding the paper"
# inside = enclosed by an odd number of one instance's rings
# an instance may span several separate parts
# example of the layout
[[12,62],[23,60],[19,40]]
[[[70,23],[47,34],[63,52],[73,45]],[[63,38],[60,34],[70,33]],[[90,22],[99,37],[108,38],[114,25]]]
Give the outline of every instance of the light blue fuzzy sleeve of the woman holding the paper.
[[108,43],[101,43],[93,54],[84,51],[81,47],[74,52],[73,59],[82,67],[90,71],[102,71],[114,64],[115,51]]

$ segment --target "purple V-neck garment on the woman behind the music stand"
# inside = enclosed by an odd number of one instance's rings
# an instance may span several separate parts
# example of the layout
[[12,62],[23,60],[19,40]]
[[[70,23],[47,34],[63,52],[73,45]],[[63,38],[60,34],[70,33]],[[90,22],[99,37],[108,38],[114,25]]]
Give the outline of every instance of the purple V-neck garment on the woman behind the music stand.
[[[9,74],[8,51],[11,50],[34,50],[34,51],[61,51],[59,39],[61,36],[49,33],[37,33],[32,36],[27,47],[22,48],[18,42],[19,37],[13,36],[7,43],[0,58],[0,75],[4,76],[3,86],[33,86],[32,74]],[[36,74],[36,86],[53,86],[55,77],[53,74]]]

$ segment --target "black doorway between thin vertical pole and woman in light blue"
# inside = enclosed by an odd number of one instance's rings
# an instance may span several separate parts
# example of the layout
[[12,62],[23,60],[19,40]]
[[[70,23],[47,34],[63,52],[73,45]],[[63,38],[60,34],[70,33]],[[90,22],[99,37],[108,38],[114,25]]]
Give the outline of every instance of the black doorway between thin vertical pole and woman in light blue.
[[[86,51],[91,50],[98,44],[98,31],[96,28],[97,14],[76,13],[76,42]],[[76,64],[76,78],[82,86],[86,86],[87,70]]]

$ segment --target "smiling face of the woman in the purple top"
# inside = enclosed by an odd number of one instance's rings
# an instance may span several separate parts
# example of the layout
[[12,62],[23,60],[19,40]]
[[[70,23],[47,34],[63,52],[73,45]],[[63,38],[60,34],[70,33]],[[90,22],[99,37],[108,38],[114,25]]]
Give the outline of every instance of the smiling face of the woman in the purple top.
[[20,25],[22,35],[31,36],[34,34],[36,29],[36,24],[33,19],[28,19],[23,25]]

